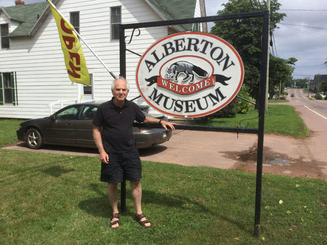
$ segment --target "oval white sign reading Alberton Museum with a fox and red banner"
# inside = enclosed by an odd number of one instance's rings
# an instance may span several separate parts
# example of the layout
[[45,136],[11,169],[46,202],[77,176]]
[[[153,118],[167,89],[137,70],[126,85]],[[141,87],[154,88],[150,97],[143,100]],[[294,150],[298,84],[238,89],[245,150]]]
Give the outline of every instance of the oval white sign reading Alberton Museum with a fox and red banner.
[[145,51],[136,85],[154,109],[176,117],[198,117],[226,106],[238,93],[244,67],[223,39],[200,32],[167,36]]

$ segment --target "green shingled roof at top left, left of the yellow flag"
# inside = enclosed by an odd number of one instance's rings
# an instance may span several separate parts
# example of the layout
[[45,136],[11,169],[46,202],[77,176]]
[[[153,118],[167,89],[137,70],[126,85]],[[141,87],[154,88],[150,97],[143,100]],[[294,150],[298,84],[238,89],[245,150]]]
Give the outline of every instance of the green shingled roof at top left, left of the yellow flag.
[[49,4],[47,2],[42,2],[37,4],[1,7],[0,10],[3,10],[11,20],[21,23],[13,32],[9,33],[8,37],[33,36],[31,32],[48,6]]

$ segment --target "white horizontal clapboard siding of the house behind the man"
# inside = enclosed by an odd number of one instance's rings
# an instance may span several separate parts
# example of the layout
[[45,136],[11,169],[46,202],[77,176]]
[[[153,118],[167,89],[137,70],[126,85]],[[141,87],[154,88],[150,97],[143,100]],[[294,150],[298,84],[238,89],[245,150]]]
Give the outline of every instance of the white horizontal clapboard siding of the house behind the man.
[[[122,23],[161,21],[143,0],[59,0],[56,7],[69,20],[69,12],[79,11],[80,35],[104,61],[109,69],[119,75],[119,42],[110,42],[110,7],[122,7]],[[0,23],[8,23],[0,13]],[[17,23],[12,24],[16,27]],[[12,29],[11,29],[12,31]],[[140,29],[141,35],[133,37],[127,45],[138,54],[155,41],[167,35],[167,27]],[[130,36],[131,30],[125,35]],[[94,98],[106,101],[111,98],[113,78],[96,57],[81,42],[90,73],[96,73]],[[46,18],[34,37],[10,40],[10,49],[0,50],[0,72],[16,71],[18,105],[0,105],[0,117],[37,118],[50,114],[48,104],[56,100],[77,99],[77,84],[68,79],[58,30],[52,14]],[[135,85],[135,69],[139,57],[126,52],[126,79],[130,82],[129,99],[139,95]],[[67,102],[65,104],[69,104]],[[145,104],[142,99],[137,103]],[[54,106],[53,111],[59,109]]]

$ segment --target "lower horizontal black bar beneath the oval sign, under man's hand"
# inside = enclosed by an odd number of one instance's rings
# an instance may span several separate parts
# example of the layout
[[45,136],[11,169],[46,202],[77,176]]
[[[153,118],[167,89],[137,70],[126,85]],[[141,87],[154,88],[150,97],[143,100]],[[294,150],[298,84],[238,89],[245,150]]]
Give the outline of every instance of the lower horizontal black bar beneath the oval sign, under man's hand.
[[[161,129],[159,124],[139,124],[135,122],[134,127],[137,128],[154,128]],[[177,130],[195,130],[195,131],[211,131],[211,132],[230,132],[230,133],[244,133],[244,134],[258,134],[258,129],[246,128],[227,128],[227,127],[212,127],[212,126],[196,126],[196,125],[174,125]]]

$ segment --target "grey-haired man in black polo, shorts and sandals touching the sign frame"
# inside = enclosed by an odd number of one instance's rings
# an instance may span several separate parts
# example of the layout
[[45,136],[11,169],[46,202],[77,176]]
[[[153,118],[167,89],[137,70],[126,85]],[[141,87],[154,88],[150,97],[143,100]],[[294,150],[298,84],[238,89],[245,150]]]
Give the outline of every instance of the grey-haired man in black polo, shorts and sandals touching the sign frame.
[[[120,226],[117,184],[123,179],[131,183],[131,194],[136,209],[135,219],[140,225],[150,227],[141,209],[141,160],[135,147],[133,122],[161,124],[175,129],[171,122],[145,116],[134,102],[126,99],[129,84],[124,78],[115,79],[111,85],[113,97],[102,103],[93,120],[93,138],[100,153],[101,181],[107,182],[107,194],[113,209],[110,227]],[[101,137],[101,127],[103,135]]]

